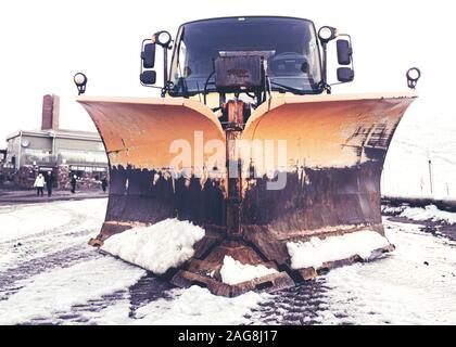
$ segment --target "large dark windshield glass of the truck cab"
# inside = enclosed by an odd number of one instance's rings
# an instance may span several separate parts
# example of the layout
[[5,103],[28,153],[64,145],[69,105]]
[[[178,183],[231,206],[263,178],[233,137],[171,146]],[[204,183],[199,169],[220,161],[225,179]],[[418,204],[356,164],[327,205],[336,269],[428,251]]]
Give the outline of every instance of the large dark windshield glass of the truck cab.
[[214,60],[254,52],[267,61],[273,90],[321,91],[321,65],[312,22],[286,17],[233,17],[193,22],[180,27],[173,55],[173,95],[214,91]]

